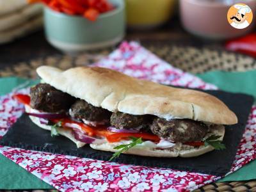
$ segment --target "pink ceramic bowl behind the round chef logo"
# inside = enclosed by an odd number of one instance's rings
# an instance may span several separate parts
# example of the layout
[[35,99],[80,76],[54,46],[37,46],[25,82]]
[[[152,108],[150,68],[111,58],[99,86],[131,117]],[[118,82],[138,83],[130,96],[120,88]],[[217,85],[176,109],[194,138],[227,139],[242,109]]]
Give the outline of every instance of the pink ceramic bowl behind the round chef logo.
[[[212,40],[225,40],[245,35],[255,27],[255,21],[245,29],[235,29],[228,23],[227,12],[235,1],[180,0],[180,18],[184,28],[190,33]],[[256,1],[241,1],[253,10],[255,15]],[[239,3],[239,2],[238,2]]]

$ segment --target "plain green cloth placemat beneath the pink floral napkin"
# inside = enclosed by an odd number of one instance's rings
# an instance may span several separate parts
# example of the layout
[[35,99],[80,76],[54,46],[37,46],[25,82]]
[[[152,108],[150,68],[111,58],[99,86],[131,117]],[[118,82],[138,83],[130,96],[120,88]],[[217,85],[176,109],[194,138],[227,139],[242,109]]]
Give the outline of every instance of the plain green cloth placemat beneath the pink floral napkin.
[[[243,92],[256,98],[256,70],[250,72],[207,72],[198,74],[204,81],[216,84],[220,89],[229,92]],[[17,77],[0,79],[0,95],[13,90],[15,86],[28,86],[38,81],[28,81]],[[19,165],[0,155],[0,189],[53,189]],[[252,171],[253,170],[253,171]],[[13,177],[15,175],[15,177]],[[220,181],[256,179],[256,161],[247,164],[240,170],[228,175]]]

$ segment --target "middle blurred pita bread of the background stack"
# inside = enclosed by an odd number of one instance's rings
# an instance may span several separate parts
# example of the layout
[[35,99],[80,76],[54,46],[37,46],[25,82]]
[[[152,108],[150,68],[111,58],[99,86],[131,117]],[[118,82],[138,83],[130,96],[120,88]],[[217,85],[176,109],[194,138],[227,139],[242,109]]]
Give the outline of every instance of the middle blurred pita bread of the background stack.
[[42,13],[42,4],[31,4],[12,14],[0,16],[0,31],[15,28]]

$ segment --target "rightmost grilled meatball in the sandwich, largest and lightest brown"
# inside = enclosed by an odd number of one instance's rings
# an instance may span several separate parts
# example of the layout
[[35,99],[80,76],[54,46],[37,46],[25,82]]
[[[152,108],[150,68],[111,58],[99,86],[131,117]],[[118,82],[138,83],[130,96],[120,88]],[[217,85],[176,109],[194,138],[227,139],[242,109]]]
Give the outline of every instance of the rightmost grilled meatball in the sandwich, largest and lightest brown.
[[164,118],[156,118],[150,129],[160,138],[180,143],[202,141],[208,131],[207,125],[202,122],[189,119],[165,120]]

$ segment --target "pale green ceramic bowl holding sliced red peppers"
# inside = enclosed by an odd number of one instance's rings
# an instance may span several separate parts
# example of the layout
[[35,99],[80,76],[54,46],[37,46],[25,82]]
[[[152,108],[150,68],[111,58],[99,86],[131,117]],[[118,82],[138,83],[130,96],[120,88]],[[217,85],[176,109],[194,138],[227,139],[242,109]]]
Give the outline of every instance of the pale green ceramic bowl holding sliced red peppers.
[[92,22],[44,8],[45,36],[49,43],[64,52],[76,53],[115,45],[125,35],[123,0],[110,0],[116,8],[102,13]]

